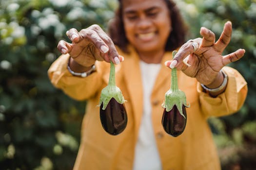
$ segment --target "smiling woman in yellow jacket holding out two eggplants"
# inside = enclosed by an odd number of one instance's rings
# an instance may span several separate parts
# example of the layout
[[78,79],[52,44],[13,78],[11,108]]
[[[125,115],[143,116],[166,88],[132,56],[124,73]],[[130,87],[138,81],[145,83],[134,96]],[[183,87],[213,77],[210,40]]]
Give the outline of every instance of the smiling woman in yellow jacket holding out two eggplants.
[[[213,32],[201,28],[202,38],[184,43],[185,27],[172,0],[119,0],[109,32],[110,37],[98,25],[70,29],[72,44],[59,41],[63,55],[48,71],[53,85],[88,101],[74,170],[220,170],[207,118],[236,112],[247,94],[243,77],[224,67],[245,51],[221,55],[231,39],[231,22],[217,42]],[[171,51],[179,47],[172,60]],[[110,60],[117,64],[117,86],[127,101],[127,127],[118,136],[103,130],[96,107]],[[161,125],[169,68],[180,70],[178,85],[191,104],[178,137]]]

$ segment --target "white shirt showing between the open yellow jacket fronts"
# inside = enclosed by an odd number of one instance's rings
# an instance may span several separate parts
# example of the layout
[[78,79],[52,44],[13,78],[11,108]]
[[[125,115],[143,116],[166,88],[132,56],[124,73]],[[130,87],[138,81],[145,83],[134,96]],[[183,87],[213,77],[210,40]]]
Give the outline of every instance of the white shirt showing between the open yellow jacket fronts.
[[151,118],[151,93],[161,64],[140,61],[143,85],[143,116],[135,148],[133,170],[161,170],[161,161],[156,144]]

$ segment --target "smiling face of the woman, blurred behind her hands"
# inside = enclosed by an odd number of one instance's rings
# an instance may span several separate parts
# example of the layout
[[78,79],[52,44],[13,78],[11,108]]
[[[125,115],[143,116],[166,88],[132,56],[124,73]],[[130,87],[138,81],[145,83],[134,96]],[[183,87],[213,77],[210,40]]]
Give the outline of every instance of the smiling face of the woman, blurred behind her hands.
[[171,31],[164,0],[123,0],[124,30],[138,52],[163,51]]

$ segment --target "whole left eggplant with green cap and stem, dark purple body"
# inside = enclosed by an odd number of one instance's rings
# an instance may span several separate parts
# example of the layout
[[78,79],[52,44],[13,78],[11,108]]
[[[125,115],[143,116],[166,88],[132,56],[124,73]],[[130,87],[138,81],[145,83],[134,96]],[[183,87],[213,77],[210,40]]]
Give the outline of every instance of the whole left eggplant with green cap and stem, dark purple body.
[[110,62],[108,85],[101,90],[99,116],[103,129],[110,135],[120,134],[126,127],[127,114],[124,97],[116,86],[115,65]]

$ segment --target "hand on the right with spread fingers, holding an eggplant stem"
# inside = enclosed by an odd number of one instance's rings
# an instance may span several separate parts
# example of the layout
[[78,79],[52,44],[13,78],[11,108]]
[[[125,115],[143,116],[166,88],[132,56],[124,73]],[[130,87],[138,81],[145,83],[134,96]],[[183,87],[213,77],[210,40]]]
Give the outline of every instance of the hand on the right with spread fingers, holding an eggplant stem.
[[[199,83],[209,88],[216,88],[223,81],[221,68],[242,58],[245,50],[239,49],[222,56],[222,52],[231,40],[232,23],[230,21],[225,23],[217,42],[215,42],[215,34],[207,28],[202,27],[200,34],[203,38],[186,42],[178,50],[175,59],[166,61],[165,65],[182,70],[186,75],[197,78]],[[188,64],[185,64],[184,59]]]

